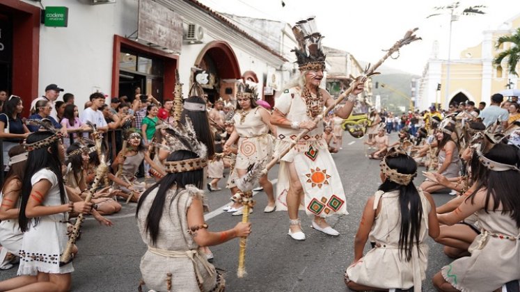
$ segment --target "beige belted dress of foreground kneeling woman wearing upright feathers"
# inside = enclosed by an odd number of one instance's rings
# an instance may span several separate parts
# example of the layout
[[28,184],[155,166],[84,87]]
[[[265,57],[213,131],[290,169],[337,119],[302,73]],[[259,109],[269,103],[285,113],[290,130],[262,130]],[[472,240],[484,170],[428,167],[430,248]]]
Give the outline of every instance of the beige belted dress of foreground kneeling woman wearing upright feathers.
[[159,234],[154,244],[145,227],[157,190],[155,188],[145,198],[137,216],[139,233],[148,245],[148,250],[141,257],[140,266],[145,286],[155,291],[167,291],[166,274],[171,273],[171,291],[221,291],[224,286],[223,277],[217,275],[214,266],[207,262],[205,254],[187,232],[188,208],[194,197],[204,201],[203,191],[193,185],[186,186],[177,195],[175,188],[166,191]]

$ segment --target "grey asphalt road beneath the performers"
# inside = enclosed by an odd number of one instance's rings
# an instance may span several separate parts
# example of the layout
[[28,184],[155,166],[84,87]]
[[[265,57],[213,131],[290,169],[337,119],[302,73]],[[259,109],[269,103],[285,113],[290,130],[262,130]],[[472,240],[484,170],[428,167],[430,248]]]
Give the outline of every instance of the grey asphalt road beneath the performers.
[[[333,154],[347,195],[349,215],[329,219],[340,236],[331,237],[310,228],[310,218],[301,212],[302,226],[307,239],[303,242],[287,236],[289,221],[285,211],[263,213],[267,204],[265,193],[257,193],[257,208],[251,214],[253,233],[249,236],[246,253],[248,275],[237,278],[239,241],[233,240],[211,248],[214,265],[226,270],[226,291],[345,291],[343,273],[354,257],[354,235],[367,198],[379,186],[379,161],[365,158],[362,140],[347,133],[343,149]],[[391,135],[396,140],[396,135]],[[419,169],[423,170],[422,168]],[[269,173],[276,182],[277,166]],[[419,175],[416,185],[423,181]],[[225,179],[219,185],[223,188]],[[221,213],[221,206],[229,202],[230,193],[223,190],[207,193],[210,209],[207,223],[212,231],[233,227],[241,216]],[[439,206],[450,200],[447,194],[435,194]],[[108,216],[113,227],[102,227],[88,218],[82,227],[83,235],[77,242],[79,254],[74,259],[72,291],[136,291],[141,275],[139,261],[146,246],[136,226],[136,204],[123,204],[120,213]],[[427,279],[423,291],[435,291],[432,276],[450,262],[441,245],[429,238],[430,256]],[[367,246],[368,249],[368,246]],[[14,277],[17,266],[0,271],[0,279]]]

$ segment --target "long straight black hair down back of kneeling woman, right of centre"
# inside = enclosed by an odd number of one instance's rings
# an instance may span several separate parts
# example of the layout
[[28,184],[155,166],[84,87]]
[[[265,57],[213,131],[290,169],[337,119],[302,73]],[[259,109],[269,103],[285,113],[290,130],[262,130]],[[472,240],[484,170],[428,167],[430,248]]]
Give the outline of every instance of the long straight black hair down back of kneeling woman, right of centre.
[[[403,175],[412,175],[417,172],[416,161],[406,154],[397,154],[396,156],[387,156],[386,165],[388,168],[397,170]],[[399,235],[400,257],[404,254],[407,261],[411,260],[413,245],[419,250],[420,222],[423,220],[423,205],[420,202],[420,196],[413,181],[407,186],[386,179],[378,188],[385,193],[393,190],[399,190],[399,206],[401,213],[401,227]]]

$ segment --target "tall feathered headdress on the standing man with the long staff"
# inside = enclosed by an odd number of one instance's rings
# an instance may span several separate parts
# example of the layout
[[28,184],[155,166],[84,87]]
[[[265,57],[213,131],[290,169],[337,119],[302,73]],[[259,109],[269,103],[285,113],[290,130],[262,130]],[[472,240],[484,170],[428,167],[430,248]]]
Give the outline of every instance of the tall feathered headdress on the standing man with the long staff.
[[324,70],[325,54],[322,51],[324,36],[317,31],[315,17],[301,20],[292,27],[299,48],[292,51],[296,54],[300,71]]

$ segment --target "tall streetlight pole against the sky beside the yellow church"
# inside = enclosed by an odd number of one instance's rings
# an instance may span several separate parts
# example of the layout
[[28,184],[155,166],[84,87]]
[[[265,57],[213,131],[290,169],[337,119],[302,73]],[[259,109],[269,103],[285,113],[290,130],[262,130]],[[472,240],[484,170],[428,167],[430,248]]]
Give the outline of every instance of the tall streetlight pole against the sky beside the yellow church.
[[[462,12],[460,12],[459,10],[457,10],[457,8],[459,8],[459,4],[460,4],[460,2],[457,1],[457,2],[451,3],[448,6],[437,6],[437,7],[434,7],[434,10],[449,12],[449,14],[450,14],[450,33],[449,33],[449,38],[450,39],[448,40],[448,63],[446,64],[446,99],[444,101],[445,104],[448,104],[448,102],[449,102],[448,98],[450,97],[450,63],[451,63],[451,31],[452,31],[452,24],[453,24],[453,22],[456,22],[457,20],[459,20],[459,17],[461,15],[478,15],[478,14],[482,15],[482,14],[485,14],[484,11],[482,11],[480,9],[486,8],[486,6],[483,6],[483,5],[468,6],[468,8],[464,8],[464,10],[462,10]],[[442,14],[446,14],[446,13],[434,13],[432,15],[428,15],[426,18],[430,18],[432,16],[442,15]]]

